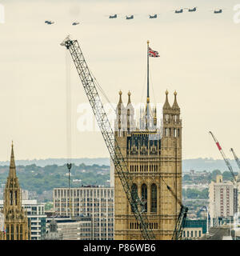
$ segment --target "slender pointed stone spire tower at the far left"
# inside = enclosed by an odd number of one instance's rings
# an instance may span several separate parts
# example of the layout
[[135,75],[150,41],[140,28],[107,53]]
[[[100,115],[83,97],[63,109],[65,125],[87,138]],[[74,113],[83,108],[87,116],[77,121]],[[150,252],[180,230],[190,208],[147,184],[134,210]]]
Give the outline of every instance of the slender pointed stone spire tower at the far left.
[[29,240],[28,219],[22,208],[21,190],[16,174],[14,146],[12,145],[10,170],[4,190],[4,240]]

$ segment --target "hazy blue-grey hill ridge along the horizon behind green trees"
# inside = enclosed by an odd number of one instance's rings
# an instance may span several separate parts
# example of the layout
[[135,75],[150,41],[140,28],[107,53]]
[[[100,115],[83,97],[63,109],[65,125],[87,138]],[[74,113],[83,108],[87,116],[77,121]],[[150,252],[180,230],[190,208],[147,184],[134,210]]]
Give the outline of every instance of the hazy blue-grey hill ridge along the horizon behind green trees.
[[[72,163],[76,166],[84,163],[86,166],[92,165],[105,165],[110,166],[109,158],[74,158],[72,159]],[[0,166],[9,166],[10,162],[0,162]],[[65,158],[47,158],[47,159],[33,159],[33,160],[16,160],[17,166],[29,166],[35,164],[36,166],[50,166],[50,165],[58,165],[63,166],[66,164]],[[230,159],[230,164],[233,167],[234,171],[238,171],[238,166],[236,162]],[[222,159],[213,158],[193,158],[193,159],[184,159],[182,160],[182,171],[186,172],[189,170],[203,171],[203,170],[221,170],[222,172],[227,170],[226,163]]]

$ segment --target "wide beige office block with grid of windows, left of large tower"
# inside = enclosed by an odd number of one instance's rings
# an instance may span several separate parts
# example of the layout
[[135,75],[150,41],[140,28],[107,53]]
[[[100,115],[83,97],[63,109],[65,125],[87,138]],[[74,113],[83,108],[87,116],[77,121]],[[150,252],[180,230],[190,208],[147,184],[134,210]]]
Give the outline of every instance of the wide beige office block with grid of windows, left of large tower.
[[53,198],[57,216],[90,217],[93,222],[94,240],[114,239],[114,188],[54,188]]

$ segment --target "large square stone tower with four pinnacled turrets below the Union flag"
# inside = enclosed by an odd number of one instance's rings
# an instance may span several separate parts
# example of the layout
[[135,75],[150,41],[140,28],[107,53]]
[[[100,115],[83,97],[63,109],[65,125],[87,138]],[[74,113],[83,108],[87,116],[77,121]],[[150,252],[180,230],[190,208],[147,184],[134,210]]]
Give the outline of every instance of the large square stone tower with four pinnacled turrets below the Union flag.
[[[170,106],[166,91],[161,127],[157,124],[156,108],[150,108],[149,95],[146,108],[140,110],[139,126],[136,127],[130,93],[128,97],[125,107],[120,91],[114,123],[115,138],[133,180],[131,189],[138,191],[138,197],[145,202],[146,215],[155,238],[171,239],[180,206],[166,185],[182,200],[182,120],[177,93],[174,92],[174,104]],[[116,170],[114,188],[114,239],[142,239]]]

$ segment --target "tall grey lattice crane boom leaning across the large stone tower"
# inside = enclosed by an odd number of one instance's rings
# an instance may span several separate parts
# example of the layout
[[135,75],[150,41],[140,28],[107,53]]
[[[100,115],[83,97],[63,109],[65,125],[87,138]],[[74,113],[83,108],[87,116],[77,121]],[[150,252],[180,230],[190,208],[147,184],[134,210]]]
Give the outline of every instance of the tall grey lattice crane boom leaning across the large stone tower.
[[115,170],[117,171],[118,177],[122,182],[122,187],[126,193],[126,198],[130,202],[134,217],[136,218],[138,225],[141,228],[142,238],[145,240],[154,240],[154,232],[150,229],[144,203],[138,197],[136,191],[132,190],[133,181],[130,172],[127,168],[126,161],[122,156],[120,146],[118,146],[118,142],[115,139],[109,119],[107,118],[106,112],[103,108],[101,98],[98,95],[97,81],[91,74],[86,64],[86,60],[82,54],[82,50],[78,44],[78,40],[72,40],[68,36],[63,40],[61,46],[66,46],[66,49],[70,51],[70,55],[78,71],[82,86],[86,92],[86,96],[90,102],[90,106],[94,111],[94,116],[98,122],[98,126],[101,130],[104,141],[106,142],[106,147],[110,153],[110,158],[114,162]]

